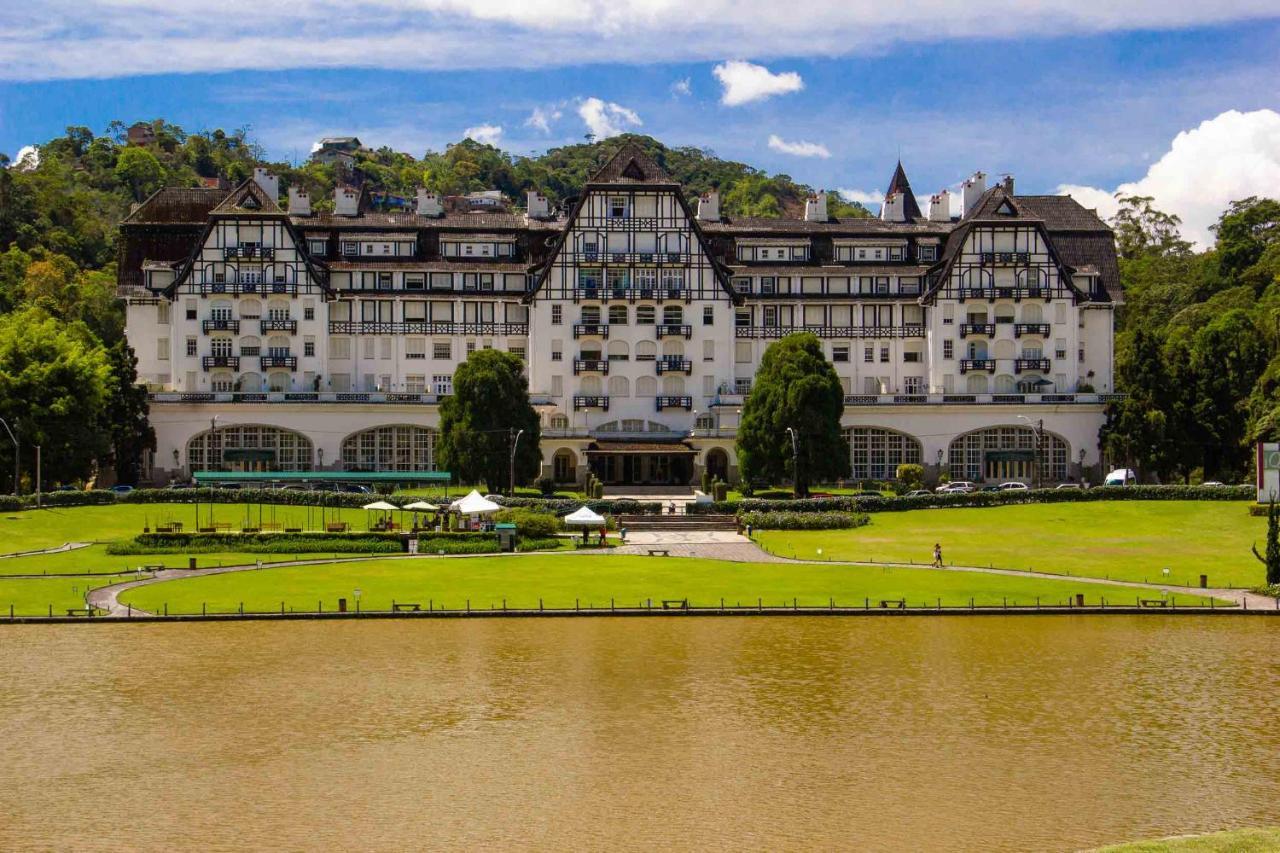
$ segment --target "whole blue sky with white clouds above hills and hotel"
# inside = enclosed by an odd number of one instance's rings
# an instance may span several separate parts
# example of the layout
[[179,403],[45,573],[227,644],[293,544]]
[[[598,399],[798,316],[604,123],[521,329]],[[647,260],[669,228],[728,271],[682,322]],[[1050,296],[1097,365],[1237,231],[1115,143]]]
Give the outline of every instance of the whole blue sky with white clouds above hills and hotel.
[[[67,124],[532,152],[640,131],[873,200],[975,169],[1208,240],[1280,195],[1274,0],[45,0],[0,9],[0,151]],[[284,6],[288,6],[287,9]],[[895,8],[900,6],[900,8]]]

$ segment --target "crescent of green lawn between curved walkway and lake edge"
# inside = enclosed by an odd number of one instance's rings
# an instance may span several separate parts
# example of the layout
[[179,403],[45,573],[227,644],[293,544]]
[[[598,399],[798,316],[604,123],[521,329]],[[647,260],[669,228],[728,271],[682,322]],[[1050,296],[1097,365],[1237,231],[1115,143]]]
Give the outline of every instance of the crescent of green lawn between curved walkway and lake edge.
[[[797,566],[794,564],[745,564],[678,557],[637,557],[614,555],[530,555],[517,557],[397,558],[320,566],[264,569],[228,575],[191,578],[131,590],[122,601],[143,610],[170,613],[200,612],[206,605],[214,612],[230,612],[243,602],[248,611],[279,611],[285,607],[314,611],[323,601],[325,610],[337,607],[338,598],[353,606],[355,589],[369,610],[389,610],[392,601],[415,602],[426,607],[466,606],[475,610],[500,607],[608,607],[613,598],[620,606],[641,601],[689,598],[695,606],[727,605],[876,606],[882,598],[908,598],[911,606],[1009,603],[1064,603],[1076,593],[1087,603],[1132,603],[1134,593],[1098,584],[1071,580],[933,571],[928,569],[881,569],[861,566]],[[1202,599],[1179,597],[1183,603]]]

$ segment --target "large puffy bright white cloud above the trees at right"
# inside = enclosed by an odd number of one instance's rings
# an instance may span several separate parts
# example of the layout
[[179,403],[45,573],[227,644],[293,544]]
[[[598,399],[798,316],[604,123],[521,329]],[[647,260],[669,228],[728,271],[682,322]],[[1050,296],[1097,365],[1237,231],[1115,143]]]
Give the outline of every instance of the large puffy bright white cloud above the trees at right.
[[1248,196],[1280,195],[1280,113],[1228,110],[1183,131],[1147,174],[1114,191],[1062,184],[1085,207],[1108,218],[1115,195],[1151,196],[1155,205],[1183,220],[1183,237],[1199,247],[1213,242],[1210,225],[1228,204]]

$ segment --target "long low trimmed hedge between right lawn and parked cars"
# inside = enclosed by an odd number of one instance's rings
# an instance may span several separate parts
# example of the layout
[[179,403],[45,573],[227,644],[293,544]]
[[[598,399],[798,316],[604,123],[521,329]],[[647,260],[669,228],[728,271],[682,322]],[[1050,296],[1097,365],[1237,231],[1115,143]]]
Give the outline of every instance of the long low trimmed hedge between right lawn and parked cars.
[[1020,503],[1084,503],[1092,501],[1256,501],[1252,485],[1111,485],[1092,489],[1018,489],[918,497],[832,497],[790,501],[719,501],[690,503],[691,514],[737,512],[895,512],[933,507],[983,507]]

